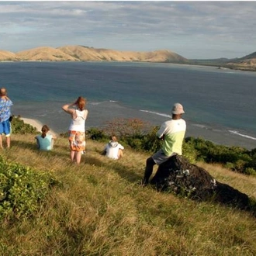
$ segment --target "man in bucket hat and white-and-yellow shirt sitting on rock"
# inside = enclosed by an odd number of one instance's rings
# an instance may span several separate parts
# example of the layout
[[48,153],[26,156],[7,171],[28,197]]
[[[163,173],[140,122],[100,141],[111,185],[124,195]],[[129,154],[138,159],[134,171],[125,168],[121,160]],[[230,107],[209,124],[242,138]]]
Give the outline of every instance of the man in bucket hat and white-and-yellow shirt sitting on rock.
[[143,186],[149,183],[154,164],[162,164],[175,154],[182,155],[182,143],[186,130],[185,120],[182,119],[182,114],[185,113],[182,104],[175,103],[171,113],[171,120],[162,123],[157,131],[157,137],[164,140],[163,146],[155,154],[147,158],[144,178],[141,181]]

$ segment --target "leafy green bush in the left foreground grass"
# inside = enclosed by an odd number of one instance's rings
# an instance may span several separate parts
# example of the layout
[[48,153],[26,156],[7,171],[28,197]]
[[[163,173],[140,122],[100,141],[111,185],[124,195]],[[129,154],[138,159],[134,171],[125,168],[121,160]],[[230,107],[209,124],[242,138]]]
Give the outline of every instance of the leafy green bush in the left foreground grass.
[[0,157],[0,219],[31,216],[57,184],[49,173],[20,164],[8,164]]

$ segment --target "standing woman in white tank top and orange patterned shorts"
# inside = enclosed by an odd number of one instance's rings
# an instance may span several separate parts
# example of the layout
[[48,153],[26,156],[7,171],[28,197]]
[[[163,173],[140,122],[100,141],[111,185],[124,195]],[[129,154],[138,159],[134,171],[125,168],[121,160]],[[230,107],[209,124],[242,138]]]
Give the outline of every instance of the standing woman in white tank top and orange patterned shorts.
[[71,161],[75,161],[77,164],[80,164],[81,154],[85,150],[85,120],[88,116],[85,104],[86,99],[80,96],[74,103],[62,106],[62,109],[71,115],[68,140],[71,148]]

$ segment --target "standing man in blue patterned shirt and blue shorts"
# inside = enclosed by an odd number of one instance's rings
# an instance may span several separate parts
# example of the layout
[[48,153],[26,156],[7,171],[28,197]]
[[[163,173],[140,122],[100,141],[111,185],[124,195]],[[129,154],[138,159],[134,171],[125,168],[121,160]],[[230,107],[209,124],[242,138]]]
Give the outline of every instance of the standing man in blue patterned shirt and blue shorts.
[[12,101],[7,97],[5,88],[0,88],[0,148],[3,148],[2,137],[5,134],[6,147],[11,147],[11,106]]

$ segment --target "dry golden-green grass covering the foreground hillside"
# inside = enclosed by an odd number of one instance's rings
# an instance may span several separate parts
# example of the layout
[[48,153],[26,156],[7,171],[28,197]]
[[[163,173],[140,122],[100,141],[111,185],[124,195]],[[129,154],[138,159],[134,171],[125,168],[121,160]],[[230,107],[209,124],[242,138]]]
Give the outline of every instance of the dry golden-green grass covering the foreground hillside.
[[[100,153],[87,140],[81,164],[71,164],[67,138],[52,152],[36,150],[34,134],[13,134],[2,150],[8,163],[53,175],[53,187],[33,216],[2,220],[0,255],[255,255],[251,213],[211,202],[194,202],[142,188],[149,154],[126,147],[123,159]],[[218,181],[256,197],[255,176],[217,164],[197,163]],[[1,202],[1,201],[0,201]]]

